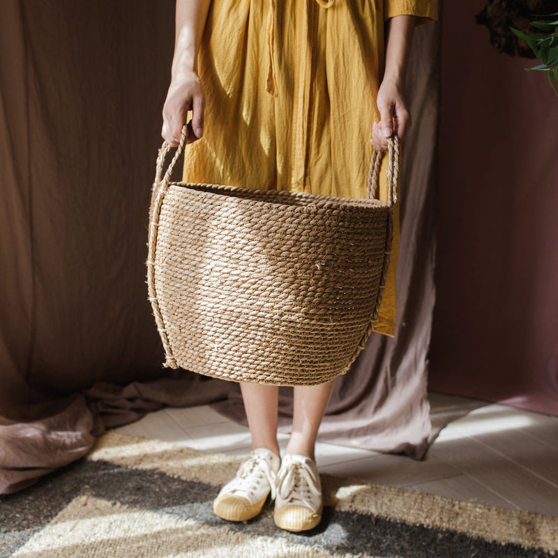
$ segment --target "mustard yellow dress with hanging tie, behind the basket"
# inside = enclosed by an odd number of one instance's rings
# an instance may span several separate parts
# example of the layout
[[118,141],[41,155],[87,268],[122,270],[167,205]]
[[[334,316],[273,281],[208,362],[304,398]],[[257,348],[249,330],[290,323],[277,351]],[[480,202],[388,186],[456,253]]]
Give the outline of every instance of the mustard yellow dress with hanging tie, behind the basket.
[[[198,55],[204,136],[183,180],[366,197],[384,22],[437,0],[212,0]],[[380,198],[386,199],[382,172]],[[375,331],[395,333],[395,238]]]

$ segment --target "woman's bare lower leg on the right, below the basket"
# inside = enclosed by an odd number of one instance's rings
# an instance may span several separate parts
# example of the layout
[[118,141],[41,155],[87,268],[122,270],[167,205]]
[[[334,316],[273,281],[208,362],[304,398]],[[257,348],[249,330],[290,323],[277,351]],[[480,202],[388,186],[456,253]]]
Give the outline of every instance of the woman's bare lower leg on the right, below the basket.
[[317,386],[294,387],[292,432],[285,453],[298,453],[315,460],[314,446],[319,424],[334,385],[335,379]]

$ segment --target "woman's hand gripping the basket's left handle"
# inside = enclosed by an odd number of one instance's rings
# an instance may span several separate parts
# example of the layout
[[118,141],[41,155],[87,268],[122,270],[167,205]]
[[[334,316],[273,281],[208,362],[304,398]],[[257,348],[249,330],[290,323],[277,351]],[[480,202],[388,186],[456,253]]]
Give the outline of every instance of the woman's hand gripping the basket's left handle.
[[174,75],[163,105],[163,139],[173,147],[179,144],[182,127],[188,111],[191,110],[192,119],[188,123],[187,143],[199,140],[204,134],[204,107],[204,91],[197,74],[184,71]]

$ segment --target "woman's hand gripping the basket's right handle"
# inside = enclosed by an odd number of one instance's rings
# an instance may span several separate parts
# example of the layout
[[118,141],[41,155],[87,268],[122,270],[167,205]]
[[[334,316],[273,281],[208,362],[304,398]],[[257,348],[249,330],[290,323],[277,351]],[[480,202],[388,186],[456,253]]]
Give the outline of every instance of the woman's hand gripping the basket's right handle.
[[405,98],[405,84],[397,80],[384,78],[379,86],[376,100],[381,121],[372,124],[370,143],[378,151],[388,149],[387,139],[393,132],[397,133],[400,142],[411,126],[411,115]]

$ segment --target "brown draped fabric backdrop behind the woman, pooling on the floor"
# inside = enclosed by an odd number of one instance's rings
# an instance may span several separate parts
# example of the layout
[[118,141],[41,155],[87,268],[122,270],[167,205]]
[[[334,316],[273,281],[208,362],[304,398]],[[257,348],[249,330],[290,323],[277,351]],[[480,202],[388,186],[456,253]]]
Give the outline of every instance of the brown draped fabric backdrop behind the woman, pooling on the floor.
[[[414,457],[430,432],[437,36],[437,25],[418,29],[413,51],[397,342],[371,338],[321,432]],[[173,3],[0,6],[0,492],[163,405],[214,402],[239,416],[236,384],[162,368],[147,301],[147,212],[173,45]],[[281,401],[285,417],[288,391]]]

